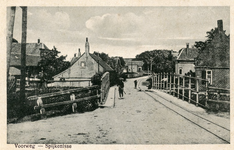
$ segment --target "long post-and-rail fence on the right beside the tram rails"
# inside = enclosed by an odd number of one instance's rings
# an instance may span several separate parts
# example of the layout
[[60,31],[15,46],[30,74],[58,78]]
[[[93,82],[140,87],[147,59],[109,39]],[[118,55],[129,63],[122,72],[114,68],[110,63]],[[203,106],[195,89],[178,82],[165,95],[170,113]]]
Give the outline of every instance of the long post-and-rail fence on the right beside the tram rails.
[[213,103],[215,107],[219,107],[220,104],[230,105],[229,89],[212,87],[208,80],[197,77],[157,73],[152,76],[152,86],[196,106],[210,108],[213,107]]

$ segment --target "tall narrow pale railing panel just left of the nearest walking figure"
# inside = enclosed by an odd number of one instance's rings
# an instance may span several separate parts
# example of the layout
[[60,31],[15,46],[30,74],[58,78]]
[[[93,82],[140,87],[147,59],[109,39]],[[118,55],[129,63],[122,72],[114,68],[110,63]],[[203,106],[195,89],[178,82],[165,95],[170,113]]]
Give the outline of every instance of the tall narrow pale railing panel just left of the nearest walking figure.
[[100,104],[104,104],[110,89],[110,73],[106,72],[102,75],[101,78],[101,98]]

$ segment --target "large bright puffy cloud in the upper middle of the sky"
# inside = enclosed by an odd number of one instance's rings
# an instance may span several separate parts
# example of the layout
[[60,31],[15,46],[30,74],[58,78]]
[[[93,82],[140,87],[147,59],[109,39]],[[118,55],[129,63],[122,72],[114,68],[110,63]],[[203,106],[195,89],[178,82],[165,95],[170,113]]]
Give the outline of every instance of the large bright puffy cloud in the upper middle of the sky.
[[86,28],[101,37],[119,38],[124,34],[135,33],[144,22],[141,16],[134,13],[126,14],[104,14],[94,16],[86,21]]

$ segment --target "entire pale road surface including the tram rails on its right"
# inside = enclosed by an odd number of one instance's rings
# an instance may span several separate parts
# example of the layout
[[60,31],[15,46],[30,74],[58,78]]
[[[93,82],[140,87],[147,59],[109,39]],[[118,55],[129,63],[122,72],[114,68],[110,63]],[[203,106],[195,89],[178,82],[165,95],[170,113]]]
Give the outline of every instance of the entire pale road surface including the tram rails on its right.
[[161,90],[125,84],[124,98],[111,87],[106,103],[91,112],[8,124],[8,143],[36,144],[228,144],[230,119]]

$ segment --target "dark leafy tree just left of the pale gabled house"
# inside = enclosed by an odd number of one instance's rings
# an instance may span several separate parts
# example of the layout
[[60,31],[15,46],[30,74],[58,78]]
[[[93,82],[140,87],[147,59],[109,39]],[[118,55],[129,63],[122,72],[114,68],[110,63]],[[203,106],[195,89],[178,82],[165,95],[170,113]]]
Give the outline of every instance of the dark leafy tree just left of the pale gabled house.
[[46,79],[51,79],[54,75],[70,67],[70,62],[65,61],[67,56],[58,56],[59,53],[56,47],[53,47],[46,55],[42,56],[38,63],[38,66],[43,69]]

